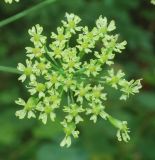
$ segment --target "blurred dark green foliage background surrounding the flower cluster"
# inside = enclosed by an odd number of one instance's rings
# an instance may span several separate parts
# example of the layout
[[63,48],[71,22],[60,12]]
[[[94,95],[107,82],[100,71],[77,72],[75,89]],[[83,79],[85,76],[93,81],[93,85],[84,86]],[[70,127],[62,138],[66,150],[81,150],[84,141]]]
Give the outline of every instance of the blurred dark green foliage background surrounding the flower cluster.
[[[0,2],[0,20],[30,8],[42,0],[21,0],[7,5]],[[27,97],[18,75],[0,72],[0,160],[155,160],[155,6],[149,0],[57,0],[0,28],[0,65],[16,67],[26,58],[30,45],[27,30],[34,24],[44,26],[50,35],[63,19],[65,12],[75,13],[82,24],[93,26],[99,15],[114,19],[117,33],[127,40],[124,54],[117,56],[115,67],[127,78],[143,78],[140,94],[127,102],[118,101],[113,91],[108,111],[127,120],[131,141],[120,143],[115,128],[99,120],[88,119],[79,126],[80,138],[69,149],[59,147],[63,138],[61,127],[37,120],[18,120],[14,103]]]

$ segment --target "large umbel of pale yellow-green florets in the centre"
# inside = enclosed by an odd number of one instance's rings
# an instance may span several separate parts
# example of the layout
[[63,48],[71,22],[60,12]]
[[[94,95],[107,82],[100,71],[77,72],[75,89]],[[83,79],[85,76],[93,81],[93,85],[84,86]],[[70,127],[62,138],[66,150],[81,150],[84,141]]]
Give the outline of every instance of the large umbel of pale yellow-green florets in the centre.
[[[108,93],[104,88],[108,84],[120,90],[120,100],[141,88],[140,80],[127,81],[123,71],[115,71],[111,66],[115,54],[125,49],[126,41],[118,42],[118,35],[112,34],[116,28],[114,21],[108,23],[105,17],[100,16],[92,29],[79,26],[80,21],[78,16],[66,13],[66,21],[62,21],[56,33],[51,33],[50,44],[39,24],[29,29],[33,45],[26,47],[25,65],[19,63],[17,68],[22,73],[19,80],[26,82],[30,97],[27,101],[16,101],[23,106],[16,116],[38,118],[46,124],[48,119],[55,121],[57,110],[61,110],[64,116],[60,123],[65,133],[61,146],[69,147],[72,137],[78,137],[77,127],[84,121],[84,115],[94,123],[98,118],[108,120],[117,128],[118,140],[127,142],[127,122],[106,112]],[[97,43],[102,44],[100,49]],[[62,97],[66,97],[66,102],[62,102]]]

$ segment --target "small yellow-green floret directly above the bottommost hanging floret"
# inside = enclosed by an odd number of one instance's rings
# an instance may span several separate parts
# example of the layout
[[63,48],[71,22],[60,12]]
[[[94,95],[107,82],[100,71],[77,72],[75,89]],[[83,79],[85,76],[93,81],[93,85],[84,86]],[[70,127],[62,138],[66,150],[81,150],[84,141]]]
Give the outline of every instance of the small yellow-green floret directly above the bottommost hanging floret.
[[83,118],[79,115],[79,113],[85,111],[82,106],[71,104],[70,106],[64,106],[63,111],[68,113],[68,115],[65,117],[67,122],[71,122],[74,118],[76,124],[78,124],[80,121],[83,121]]

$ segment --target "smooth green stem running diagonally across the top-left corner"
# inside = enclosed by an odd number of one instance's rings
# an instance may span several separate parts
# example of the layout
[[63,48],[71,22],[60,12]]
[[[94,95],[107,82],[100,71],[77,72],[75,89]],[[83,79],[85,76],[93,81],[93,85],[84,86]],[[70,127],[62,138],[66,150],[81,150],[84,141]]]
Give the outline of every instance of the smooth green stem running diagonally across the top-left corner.
[[40,10],[41,8],[43,8],[46,5],[49,5],[52,2],[55,2],[55,0],[43,1],[43,2],[41,2],[39,4],[37,4],[36,6],[30,8],[30,9],[24,10],[24,11],[22,11],[20,13],[17,13],[16,15],[14,15],[12,17],[9,17],[9,18],[7,18],[5,20],[2,20],[2,21],[0,21],[0,27],[3,27],[3,26],[5,26],[5,25],[7,25],[9,23],[12,23],[12,22],[14,22],[14,21],[16,21],[16,20],[18,20],[18,19],[20,19],[20,18],[32,13],[32,12],[35,12],[36,10]]

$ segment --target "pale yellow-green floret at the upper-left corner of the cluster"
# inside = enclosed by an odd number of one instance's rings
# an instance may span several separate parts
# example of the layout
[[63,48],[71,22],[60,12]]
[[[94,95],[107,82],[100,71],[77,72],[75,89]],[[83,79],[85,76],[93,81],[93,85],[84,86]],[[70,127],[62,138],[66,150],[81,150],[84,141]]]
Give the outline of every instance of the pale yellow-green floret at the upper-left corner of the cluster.
[[31,41],[34,43],[35,47],[42,47],[46,43],[46,37],[41,35],[43,32],[43,27],[39,24],[32,27],[28,30],[29,35],[31,36]]

